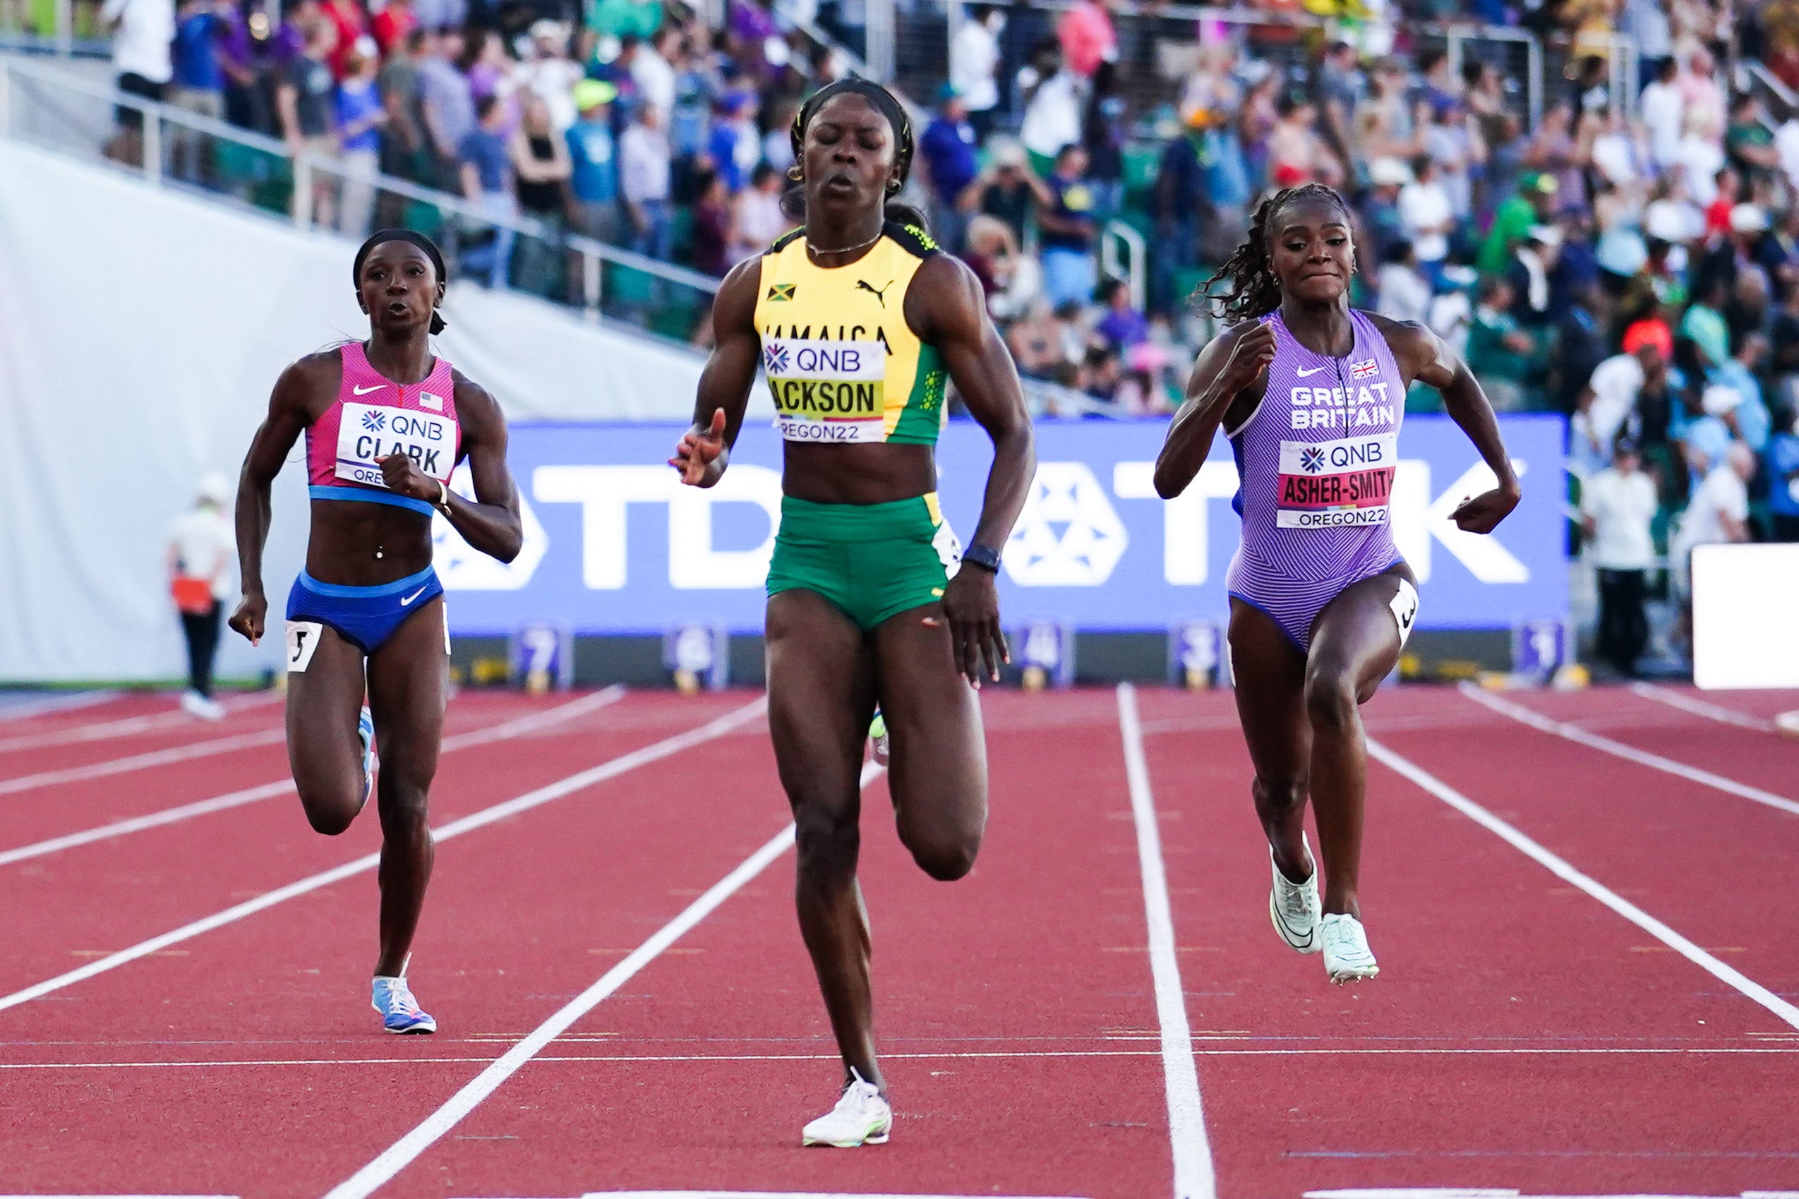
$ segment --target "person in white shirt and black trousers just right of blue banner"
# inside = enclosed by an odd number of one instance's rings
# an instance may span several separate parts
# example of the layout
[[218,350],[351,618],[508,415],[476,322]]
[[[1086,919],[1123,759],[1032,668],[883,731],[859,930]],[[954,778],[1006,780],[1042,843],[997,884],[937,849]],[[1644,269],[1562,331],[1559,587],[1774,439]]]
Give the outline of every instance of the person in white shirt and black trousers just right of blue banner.
[[1635,674],[1650,640],[1642,591],[1655,566],[1655,480],[1628,437],[1612,449],[1612,466],[1580,489],[1580,523],[1587,534],[1587,561],[1599,575],[1599,656],[1619,674]]

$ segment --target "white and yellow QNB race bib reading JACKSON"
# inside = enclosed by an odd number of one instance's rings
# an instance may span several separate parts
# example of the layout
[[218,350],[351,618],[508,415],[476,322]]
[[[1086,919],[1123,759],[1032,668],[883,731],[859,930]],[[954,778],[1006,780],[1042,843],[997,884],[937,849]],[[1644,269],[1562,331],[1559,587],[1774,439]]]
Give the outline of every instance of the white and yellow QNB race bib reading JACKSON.
[[887,347],[880,342],[768,338],[763,372],[786,440],[883,442]]

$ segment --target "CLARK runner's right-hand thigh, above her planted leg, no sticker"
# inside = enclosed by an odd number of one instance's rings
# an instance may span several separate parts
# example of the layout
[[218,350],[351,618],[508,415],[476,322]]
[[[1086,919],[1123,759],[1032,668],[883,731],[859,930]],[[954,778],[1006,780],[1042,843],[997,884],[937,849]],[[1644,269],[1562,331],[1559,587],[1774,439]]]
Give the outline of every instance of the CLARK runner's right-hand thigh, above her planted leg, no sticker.
[[443,597],[432,597],[369,654],[369,710],[381,769],[419,787],[437,773],[444,733],[450,694],[444,618]]

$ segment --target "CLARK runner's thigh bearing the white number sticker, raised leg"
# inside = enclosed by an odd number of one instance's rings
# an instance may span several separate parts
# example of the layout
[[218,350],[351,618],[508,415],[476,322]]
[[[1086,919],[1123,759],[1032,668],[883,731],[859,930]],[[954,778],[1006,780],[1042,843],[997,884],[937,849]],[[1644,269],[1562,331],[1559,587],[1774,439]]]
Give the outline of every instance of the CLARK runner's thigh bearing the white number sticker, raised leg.
[[288,766],[302,800],[362,796],[362,649],[317,620],[288,622]]

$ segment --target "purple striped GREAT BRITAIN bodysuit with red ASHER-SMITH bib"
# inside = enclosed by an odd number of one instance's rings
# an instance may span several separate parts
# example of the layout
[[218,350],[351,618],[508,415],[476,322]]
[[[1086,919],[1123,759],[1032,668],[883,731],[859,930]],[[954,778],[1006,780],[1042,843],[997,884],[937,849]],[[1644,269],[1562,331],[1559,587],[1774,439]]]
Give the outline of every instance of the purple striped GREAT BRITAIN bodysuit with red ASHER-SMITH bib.
[[1349,313],[1347,358],[1313,354],[1279,313],[1261,320],[1275,349],[1261,404],[1229,433],[1243,539],[1225,586],[1306,651],[1326,604],[1400,561],[1387,503],[1405,383],[1365,313]]

